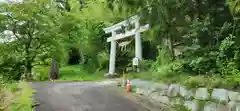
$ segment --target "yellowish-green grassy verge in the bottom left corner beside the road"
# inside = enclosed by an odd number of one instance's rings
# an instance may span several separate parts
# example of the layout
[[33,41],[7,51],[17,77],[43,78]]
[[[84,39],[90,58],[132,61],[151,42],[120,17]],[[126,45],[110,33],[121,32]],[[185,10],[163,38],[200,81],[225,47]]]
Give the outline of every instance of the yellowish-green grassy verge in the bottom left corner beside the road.
[[27,82],[11,83],[0,88],[0,111],[34,111],[33,93]]

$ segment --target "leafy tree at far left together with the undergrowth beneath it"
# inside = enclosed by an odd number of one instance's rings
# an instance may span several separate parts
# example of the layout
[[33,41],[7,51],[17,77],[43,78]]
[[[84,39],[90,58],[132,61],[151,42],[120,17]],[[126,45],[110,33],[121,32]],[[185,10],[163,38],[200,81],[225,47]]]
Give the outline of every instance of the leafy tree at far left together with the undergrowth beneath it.
[[1,45],[1,66],[5,69],[1,70],[1,73],[5,75],[4,77],[10,79],[14,77],[15,80],[21,77],[30,79],[34,66],[48,64],[45,62],[46,59],[62,52],[59,24],[54,22],[60,13],[57,13],[57,9],[49,3],[43,0],[37,2],[26,0],[22,4],[1,6],[8,14],[1,15],[0,30],[12,32],[11,35],[2,34],[1,38],[15,39]]

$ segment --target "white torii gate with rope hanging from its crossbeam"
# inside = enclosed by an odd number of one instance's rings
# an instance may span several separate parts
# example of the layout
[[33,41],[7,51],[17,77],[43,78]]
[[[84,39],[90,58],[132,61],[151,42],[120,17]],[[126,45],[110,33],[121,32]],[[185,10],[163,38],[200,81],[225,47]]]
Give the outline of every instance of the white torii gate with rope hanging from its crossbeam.
[[[139,16],[133,16],[127,20],[124,20],[118,24],[115,24],[111,27],[104,28],[105,33],[112,33],[112,36],[107,38],[107,42],[111,42],[110,50],[110,61],[109,61],[109,72],[108,75],[114,75],[115,73],[115,61],[116,61],[116,48],[117,40],[123,39],[129,36],[135,35],[135,57],[142,59],[142,41],[140,33],[149,29],[149,24],[145,26],[140,26]],[[125,30],[125,33],[117,34],[116,31],[120,30],[122,26],[135,25],[135,28],[132,30]]]

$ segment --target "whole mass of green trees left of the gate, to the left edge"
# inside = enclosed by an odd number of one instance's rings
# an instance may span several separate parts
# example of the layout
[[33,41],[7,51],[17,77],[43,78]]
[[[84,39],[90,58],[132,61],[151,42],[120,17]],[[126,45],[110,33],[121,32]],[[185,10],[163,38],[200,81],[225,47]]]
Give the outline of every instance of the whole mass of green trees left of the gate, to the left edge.
[[[0,37],[15,38],[0,46],[0,67],[4,69],[0,73],[9,80],[46,80],[52,58],[57,59],[60,67],[80,64],[89,73],[106,69],[109,46],[102,29],[126,15],[115,14],[104,0],[85,3],[25,0],[21,4],[1,4],[1,7],[2,12],[9,13],[0,16],[0,30],[8,30],[8,34],[2,33]],[[124,62],[126,54],[118,55],[120,62]]]

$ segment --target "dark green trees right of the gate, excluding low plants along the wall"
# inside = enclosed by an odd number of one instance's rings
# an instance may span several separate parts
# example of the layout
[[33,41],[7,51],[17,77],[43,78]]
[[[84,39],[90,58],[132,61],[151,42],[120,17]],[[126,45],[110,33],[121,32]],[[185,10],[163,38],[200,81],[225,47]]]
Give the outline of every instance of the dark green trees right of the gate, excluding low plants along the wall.
[[[226,71],[232,67],[229,65],[239,69],[239,1],[120,1],[111,0],[113,6],[116,3],[126,6],[148,21],[153,35],[147,39],[160,45],[161,49],[167,46],[163,53],[169,52],[171,61],[181,60],[188,72],[229,74],[232,73]],[[234,6],[227,5],[233,2]],[[160,59],[164,55],[159,56]],[[167,58],[163,59],[159,61],[169,62]]]

